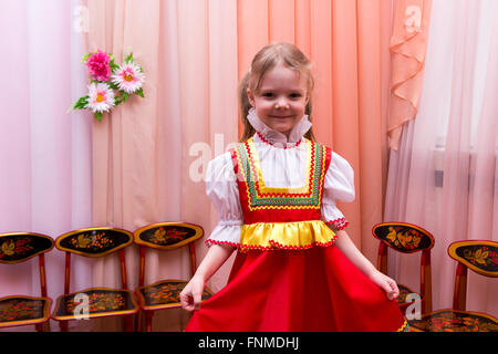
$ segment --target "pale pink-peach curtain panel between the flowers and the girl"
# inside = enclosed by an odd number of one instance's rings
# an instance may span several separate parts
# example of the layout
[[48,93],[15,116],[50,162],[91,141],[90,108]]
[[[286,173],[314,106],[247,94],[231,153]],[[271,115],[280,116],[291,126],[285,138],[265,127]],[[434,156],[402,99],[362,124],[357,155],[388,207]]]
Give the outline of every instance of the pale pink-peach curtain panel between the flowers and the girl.
[[[205,195],[203,167],[237,139],[236,3],[145,2],[87,1],[89,50],[113,52],[118,61],[133,50],[146,75],[145,100],[133,97],[102,123],[94,122],[94,223],[135,230],[158,221],[189,221],[209,232],[217,218]],[[203,242],[197,251],[200,260]],[[133,288],[136,250],[126,256]],[[94,278],[111,282],[116,272],[101,263]],[[148,252],[147,283],[189,277],[186,252]],[[215,284],[225,283],[219,277]],[[186,313],[173,310],[156,320],[163,330],[178,330]]]

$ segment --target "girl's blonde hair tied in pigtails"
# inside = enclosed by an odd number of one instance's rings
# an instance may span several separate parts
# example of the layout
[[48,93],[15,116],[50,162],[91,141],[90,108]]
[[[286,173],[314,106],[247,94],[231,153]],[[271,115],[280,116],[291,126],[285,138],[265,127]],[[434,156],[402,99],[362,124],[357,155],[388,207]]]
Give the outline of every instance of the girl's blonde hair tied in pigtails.
[[[295,70],[300,75],[304,74],[307,77],[308,84],[308,95],[309,102],[304,110],[304,113],[308,114],[308,118],[312,119],[312,97],[311,93],[314,86],[314,80],[311,72],[311,62],[308,58],[291,43],[273,43],[263,46],[252,59],[251,67],[249,72],[243,75],[239,83],[239,110],[240,110],[240,119],[243,125],[243,133],[240,142],[245,142],[255,135],[256,131],[250,125],[247,119],[247,115],[249,110],[251,108],[251,104],[249,102],[249,97],[247,96],[247,88],[250,88],[252,92],[257,93],[261,86],[262,79],[264,74],[273,69],[277,64],[282,63],[284,66]],[[313,128],[310,128],[307,134],[304,134],[310,140],[314,140]]]

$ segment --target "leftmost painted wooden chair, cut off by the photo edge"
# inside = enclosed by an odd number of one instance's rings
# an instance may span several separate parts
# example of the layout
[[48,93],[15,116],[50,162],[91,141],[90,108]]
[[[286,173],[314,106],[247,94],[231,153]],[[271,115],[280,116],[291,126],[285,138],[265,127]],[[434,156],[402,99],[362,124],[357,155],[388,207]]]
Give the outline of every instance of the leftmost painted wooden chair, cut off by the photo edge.
[[[37,331],[50,331],[52,299],[46,295],[44,253],[53,248],[49,236],[33,232],[0,235],[0,263],[18,264],[38,256],[41,296],[10,295],[0,298],[0,329],[34,324]],[[12,270],[14,267],[11,267]],[[31,278],[27,281],[31,282]],[[3,287],[6,287],[3,284]]]

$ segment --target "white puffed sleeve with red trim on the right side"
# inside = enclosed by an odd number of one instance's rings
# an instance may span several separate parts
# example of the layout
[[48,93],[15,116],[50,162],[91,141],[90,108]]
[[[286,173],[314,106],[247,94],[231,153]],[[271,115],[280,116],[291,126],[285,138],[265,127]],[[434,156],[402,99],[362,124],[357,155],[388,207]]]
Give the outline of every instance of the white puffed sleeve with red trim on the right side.
[[334,231],[344,229],[349,221],[336,201],[354,200],[354,170],[350,163],[332,152],[332,158],[323,183],[322,220]]

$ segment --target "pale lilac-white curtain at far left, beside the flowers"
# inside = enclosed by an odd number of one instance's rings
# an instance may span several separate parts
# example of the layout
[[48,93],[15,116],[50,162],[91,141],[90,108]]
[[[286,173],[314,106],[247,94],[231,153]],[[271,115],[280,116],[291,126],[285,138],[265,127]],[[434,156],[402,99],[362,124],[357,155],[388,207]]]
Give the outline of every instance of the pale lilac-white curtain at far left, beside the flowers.
[[[0,232],[34,231],[55,239],[91,223],[91,121],[85,113],[68,114],[86,85],[79,6],[0,2],[0,65],[7,83],[0,87]],[[49,296],[55,299],[63,292],[64,256],[53,250],[45,262]],[[87,285],[86,262],[74,267],[80,277],[73,284]],[[39,292],[38,262],[18,272],[0,266],[0,296]]]

